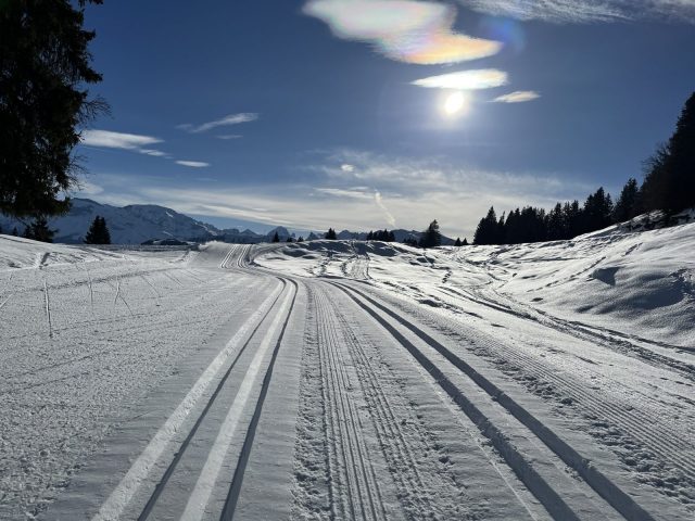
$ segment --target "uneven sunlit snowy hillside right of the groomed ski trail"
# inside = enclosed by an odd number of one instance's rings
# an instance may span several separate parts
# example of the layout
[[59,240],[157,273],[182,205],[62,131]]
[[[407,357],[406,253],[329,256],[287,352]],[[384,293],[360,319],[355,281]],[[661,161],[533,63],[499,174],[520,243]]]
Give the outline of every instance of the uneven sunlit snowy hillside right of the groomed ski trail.
[[395,243],[288,244],[256,263],[298,276],[361,278],[430,306],[466,297],[534,320],[592,325],[654,345],[695,346],[695,224],[611,227],[571,241],[421,250]]

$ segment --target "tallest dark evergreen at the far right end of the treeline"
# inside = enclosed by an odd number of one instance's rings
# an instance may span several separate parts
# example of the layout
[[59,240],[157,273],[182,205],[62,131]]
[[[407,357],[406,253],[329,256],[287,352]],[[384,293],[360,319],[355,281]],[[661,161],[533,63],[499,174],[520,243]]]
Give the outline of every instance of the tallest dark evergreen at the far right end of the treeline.
[[673,214],[695,206],[695,92],[685,102],[675,131],[645,164],[646,209]]

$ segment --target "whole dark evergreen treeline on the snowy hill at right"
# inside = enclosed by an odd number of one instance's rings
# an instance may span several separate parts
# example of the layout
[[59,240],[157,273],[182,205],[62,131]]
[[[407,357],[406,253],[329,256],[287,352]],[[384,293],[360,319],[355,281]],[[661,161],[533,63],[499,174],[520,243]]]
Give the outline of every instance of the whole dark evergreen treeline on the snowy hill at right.
[[685,103],[673,136],[645,162],[644,181],[629,179],[614,203],[603,188],[553,209],[526,206],[500,218],[494,207],[480,219],[475,244],[518,244],[573,239],[655,209],[667,217],[695,206],[695,93]]

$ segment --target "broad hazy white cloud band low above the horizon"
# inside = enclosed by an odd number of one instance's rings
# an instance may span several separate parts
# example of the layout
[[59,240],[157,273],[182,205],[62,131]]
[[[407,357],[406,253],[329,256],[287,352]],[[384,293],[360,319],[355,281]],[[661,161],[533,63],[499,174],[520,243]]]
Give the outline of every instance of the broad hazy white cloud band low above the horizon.
[[[166,177],[101,173],[104,192],[99,201],[156,203],[197,216],[316,230],[424,229],[437,218],[447,236],[470,240],[491,205],[498,214],[526,204],[551,207],[595,189],[554,174],[488,171],[435,157],[413,160],[355,150],[313,157],[303,167],[311,178],[291,186],[243,187],[222,180],[203,186],[198,178],[173,183]],[[354,169],[344,171],[344,164]]]

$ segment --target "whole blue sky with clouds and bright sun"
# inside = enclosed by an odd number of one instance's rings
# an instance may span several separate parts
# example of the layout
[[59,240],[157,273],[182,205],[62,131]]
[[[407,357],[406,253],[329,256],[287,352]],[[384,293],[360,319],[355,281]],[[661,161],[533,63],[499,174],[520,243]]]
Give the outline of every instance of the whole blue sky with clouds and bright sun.
[[470,239],[492,204],[615,193],[695,90],[694,0],[118,0],[87,26],[112,114],[77,195],[258,230]]

